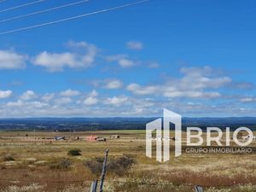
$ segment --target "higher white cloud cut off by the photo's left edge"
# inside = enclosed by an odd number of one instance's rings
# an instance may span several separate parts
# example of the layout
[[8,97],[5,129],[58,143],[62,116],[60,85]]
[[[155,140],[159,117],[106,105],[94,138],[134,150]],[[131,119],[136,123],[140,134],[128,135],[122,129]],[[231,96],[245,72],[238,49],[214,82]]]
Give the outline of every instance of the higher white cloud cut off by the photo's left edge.
[[0,50],[0,69],[20,69],[26,67],[26,55],[12,50]]

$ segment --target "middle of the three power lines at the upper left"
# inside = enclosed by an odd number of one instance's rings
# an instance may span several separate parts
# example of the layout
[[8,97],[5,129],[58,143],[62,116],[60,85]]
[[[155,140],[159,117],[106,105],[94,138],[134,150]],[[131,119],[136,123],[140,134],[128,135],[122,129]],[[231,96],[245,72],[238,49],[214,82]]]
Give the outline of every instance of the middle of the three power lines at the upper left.
[[33,12],[33,13],[30,13],[30,14],[26,14],[26,15],[19,15],[19,16],[15,16],[15,17],[10,17],[10,18],[5,19],[5,20],[0,20],[0,23],[10,21],[10,20],[18,20],[18,19],[26,18],[26,17],[32,16],[32,15],[43,14],[43,13],[53,11],[53,10],[56,10],[56,9],[63,9],[63,8],[67,8],[67,7],[70,7],[70,6],[73,6],[73,5],[77,5],[77,4],[85,3],[85,2],[89,2],[89,1],[90,0],[83,0],[83,1],[75,2],[75,3],[63,4],[63,5],[55,7],[55,8],[44,9],[44,10],[40,10],[40,11]]

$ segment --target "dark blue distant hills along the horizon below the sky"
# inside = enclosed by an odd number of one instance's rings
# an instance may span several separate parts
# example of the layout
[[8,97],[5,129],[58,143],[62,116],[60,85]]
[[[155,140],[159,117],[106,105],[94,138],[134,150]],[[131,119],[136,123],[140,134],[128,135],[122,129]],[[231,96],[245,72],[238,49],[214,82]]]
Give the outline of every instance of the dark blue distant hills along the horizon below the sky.
[[[24,118],[0,119],[0,130],[58,130],[58,131],[95,131],[95,130],[143,130],[154,118]],[[236,129],[247,126],[256,131],[256,117],[228,118],[183,118],[183,128],[198,126],[206,128],[217,126]]]

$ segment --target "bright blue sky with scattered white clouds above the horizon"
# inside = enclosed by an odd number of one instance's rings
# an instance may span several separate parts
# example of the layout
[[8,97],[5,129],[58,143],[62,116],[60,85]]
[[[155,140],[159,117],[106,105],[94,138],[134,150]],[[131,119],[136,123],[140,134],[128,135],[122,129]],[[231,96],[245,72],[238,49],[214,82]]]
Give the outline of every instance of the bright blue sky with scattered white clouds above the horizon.
[[[76,1],[0,3],[0,20]],[[78,1],[79,2],[79,1]],[[135,0],[0,21],[0,33]],[[255,116],[255,1],[151,0],[0,35],[0,117]],[[2,11],[1,11],[2,10]]]

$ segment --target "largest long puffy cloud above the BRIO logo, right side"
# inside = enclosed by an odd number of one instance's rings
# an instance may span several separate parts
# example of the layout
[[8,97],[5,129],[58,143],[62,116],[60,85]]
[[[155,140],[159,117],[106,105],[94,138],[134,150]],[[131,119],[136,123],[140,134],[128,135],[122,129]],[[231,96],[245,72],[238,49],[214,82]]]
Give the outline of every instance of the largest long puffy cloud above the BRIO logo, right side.
[[215,77],[211,67],[183,67],[183,77],[167,80],[164,84],[129,84],[126,89],[139,96],[166,96],[170,98],[218,98],[222,96],[218,88],[232,82],[229,77]]

